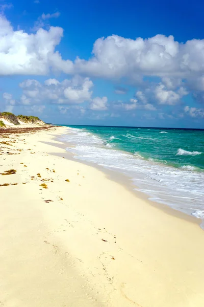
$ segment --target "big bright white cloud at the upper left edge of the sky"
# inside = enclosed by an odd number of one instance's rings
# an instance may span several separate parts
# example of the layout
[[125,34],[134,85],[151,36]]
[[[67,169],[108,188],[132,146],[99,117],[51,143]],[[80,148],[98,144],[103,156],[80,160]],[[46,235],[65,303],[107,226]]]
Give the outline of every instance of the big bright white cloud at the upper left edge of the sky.
[[63,35],[60,27],[39,29],[35,34],[14,31],[0,15],[0,75],[46,75],[50,69],[68,72],[71,61],[64,61],[55,48]]

